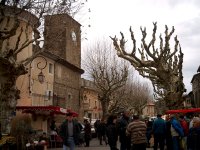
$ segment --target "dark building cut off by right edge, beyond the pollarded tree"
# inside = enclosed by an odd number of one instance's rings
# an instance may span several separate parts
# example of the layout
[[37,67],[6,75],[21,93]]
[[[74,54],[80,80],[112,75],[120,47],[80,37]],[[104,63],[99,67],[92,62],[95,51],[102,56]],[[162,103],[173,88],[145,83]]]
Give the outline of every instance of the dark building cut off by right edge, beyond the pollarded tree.
[[197,74],[192,77],[191,83],[194,95],[194,107],[200,107],[200,66],[197,69]]

